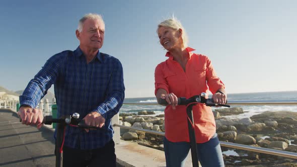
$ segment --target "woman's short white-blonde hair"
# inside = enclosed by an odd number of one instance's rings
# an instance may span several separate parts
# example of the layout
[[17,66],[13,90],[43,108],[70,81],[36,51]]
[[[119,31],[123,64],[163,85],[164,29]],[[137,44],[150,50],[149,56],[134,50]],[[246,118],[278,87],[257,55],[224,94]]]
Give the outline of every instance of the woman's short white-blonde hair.
[[158,25],[157,33],[158,33],[158,30],[160,27],[169,27],[174,30],[182,29],[182,31],[183,31],[183,33],[182,33],[183,45],[184,45],[184,47],[188,47],[188,36],[187,36],[186,30],[182,26],[181,22],[179,20],[177,20],[177,18],[175,16],[172,16],[171,18],[161,22]]

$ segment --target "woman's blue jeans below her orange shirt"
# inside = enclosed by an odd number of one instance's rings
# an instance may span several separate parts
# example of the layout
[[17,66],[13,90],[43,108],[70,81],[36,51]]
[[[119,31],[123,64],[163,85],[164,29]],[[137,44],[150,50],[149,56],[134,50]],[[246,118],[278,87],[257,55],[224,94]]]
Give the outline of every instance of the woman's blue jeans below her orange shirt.
[[[188,142],[171,142],[164,137],[164,151],[167,167],[182,167],[190,150]],[[197,143],[197,152],[200,164],[203,167],[220,167],[224,165],[224,159],[215,133],[205,143]]]

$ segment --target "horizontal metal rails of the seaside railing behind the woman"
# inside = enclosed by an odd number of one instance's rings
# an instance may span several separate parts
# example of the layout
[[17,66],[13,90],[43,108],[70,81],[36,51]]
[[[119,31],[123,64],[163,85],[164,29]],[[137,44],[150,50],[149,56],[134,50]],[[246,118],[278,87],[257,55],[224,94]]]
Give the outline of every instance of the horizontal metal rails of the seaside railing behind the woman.
[[[245,106],[245,105],[296,105],[296,101],[292,102],[231,102],[228,103],[229,105],[236,105],[236,106]],[[159,104],[152,104],[152,103],[145,103],[145,104],[139,104],[139,103],[124,103],[124,105],[159,105]],[[154,130],[148,130],[148,129],[140,129],[135,127],[128,127],[123,125],[114,124],[113,126],[124,128],[124,129],[130,129],[130,130],[136,130],[136,131],[142,131],[146,133],[156,134],[165,136],[164,132],[154,131]],[[297,159],[297,153],[295,152],[289,152],[289,151],[282,151],[282,150],[276,150],[276,149],[270,149],[270,148],[263,148],[263,147],[255,147],[250,145],[244,145],[244,144],[237,144],[237,143],[230,143],[225,141],[219,141],[221,146],[229,147],[229,148],[235,148],[235,149],[242,149],[247,151],[253,151],[253,152],[259,152],[259,153],[265,153],[265,154],[271,154],[276,156],[282,156],[282,157],[288,157]]]

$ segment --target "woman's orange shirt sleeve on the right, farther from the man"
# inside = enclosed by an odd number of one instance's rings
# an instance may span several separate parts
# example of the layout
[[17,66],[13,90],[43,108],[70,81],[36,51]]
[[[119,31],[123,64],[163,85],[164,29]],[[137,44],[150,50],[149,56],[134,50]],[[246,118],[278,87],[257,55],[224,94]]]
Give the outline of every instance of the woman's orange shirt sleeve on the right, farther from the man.
[[209,87],[209,91],[214,94],[217,90],[224,88],[225,85],[224,83],[220,80],[219,77],[217,77],[213,66],[211,64],[211,61],[209,60],[208,57],[206,57],[206,80],[207,80],[207,85]]

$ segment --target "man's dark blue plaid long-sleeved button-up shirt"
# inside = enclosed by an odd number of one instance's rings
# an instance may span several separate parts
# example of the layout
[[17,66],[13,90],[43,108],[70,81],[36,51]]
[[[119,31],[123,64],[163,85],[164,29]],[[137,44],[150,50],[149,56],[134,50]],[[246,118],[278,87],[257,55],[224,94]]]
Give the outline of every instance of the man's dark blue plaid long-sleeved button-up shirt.
[[111,118],[119,112],[124,100],[123,68],[118,59],[100,53],[87,64],[78,47],[50,57],[35,75],[22,96],[20,104],[36,107],[54,84],[58,107],[57,117],[77,112],[83,119],[96,111],[105,119],[105,130],[90,130],[66,126],[64,145],[71,148],[95,149],[112,139]]

